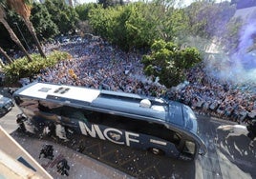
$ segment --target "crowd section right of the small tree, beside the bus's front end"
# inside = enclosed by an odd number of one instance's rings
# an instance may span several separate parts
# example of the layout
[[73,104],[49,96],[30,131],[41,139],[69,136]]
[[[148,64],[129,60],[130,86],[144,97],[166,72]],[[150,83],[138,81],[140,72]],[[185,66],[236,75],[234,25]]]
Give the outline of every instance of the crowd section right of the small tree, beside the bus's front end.
[[187,83],[171,90],[174,100],[200,113],[247,122],[256,117],[256,83],[238,85],[207,76],[203,64],[187,71]]

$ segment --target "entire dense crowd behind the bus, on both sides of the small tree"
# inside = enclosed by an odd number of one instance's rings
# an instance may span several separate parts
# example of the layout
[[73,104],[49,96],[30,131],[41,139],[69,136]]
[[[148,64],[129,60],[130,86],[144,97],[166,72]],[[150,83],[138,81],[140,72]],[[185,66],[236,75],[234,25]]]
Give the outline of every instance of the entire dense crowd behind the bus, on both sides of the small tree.
[[65,50],[73,58],[42,70],[40,81],[168,97],[198,112],[238,122],[256,117],[256,82],[245,87],[221,82],[206,75],[203,63],[187,71],[179,88],[166,89],[143,74],[138,51],[126,53],[101,39],[48,45],[45,50]]

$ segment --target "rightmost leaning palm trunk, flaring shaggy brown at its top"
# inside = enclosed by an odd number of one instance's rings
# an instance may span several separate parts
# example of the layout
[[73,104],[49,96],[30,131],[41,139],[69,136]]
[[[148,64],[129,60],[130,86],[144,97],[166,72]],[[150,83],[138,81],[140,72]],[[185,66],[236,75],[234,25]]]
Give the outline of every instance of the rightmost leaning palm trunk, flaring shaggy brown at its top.
[[36,44],[37,49],[39,50],[42,57],[46,58],[44,51],[42,50],[42,46],[36,36],[35,30],[32,26],[32,22],[30,21],[30,16],[32,12],[32,6],[30,0],[7,0],[9,7],[14,10],[17,14],[19,14],[28,29],[32,34],[32,38]]

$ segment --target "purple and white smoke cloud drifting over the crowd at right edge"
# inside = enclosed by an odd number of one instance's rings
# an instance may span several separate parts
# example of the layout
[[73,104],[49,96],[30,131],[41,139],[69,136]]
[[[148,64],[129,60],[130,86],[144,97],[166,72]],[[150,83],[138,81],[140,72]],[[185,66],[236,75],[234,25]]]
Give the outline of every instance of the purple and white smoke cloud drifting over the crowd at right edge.
[[205,60],[206,70],[221,80],[233,83],[256,83],[256,50],[254,39],[256,36],[256,21],[247,23],[240,31],[237,50],[226,54],[216,50]]

